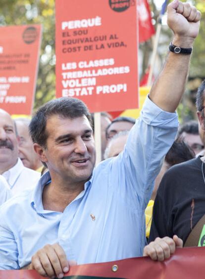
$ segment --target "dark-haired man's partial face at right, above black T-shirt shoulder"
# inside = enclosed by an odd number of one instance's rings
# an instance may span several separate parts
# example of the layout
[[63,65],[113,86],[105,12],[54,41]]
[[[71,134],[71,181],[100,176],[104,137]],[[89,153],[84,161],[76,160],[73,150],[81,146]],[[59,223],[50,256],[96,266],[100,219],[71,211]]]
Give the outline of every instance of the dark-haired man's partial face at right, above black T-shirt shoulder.
[[184,140],[194,150],[195,155],[204,149],[197,121],[189,121],[181,125],[178,131],[178,138]]

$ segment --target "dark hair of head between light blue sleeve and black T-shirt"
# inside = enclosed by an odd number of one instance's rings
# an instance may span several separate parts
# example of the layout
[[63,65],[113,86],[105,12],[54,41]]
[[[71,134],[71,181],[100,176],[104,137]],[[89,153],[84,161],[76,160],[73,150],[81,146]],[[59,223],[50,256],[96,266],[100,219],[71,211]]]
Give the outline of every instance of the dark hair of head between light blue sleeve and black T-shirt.
[[194,159],[194,151],[184,141],[175,140],[165,156],[165,161],[170,166]]

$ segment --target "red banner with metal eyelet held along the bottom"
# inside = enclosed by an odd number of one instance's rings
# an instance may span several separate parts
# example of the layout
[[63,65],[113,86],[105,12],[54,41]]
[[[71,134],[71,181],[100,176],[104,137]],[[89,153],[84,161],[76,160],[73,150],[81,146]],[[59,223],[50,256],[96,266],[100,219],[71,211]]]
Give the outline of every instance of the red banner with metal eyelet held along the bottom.
[[[178,248],[160,263],[148,257],[70,267],[64,279],[204,279],[205,247]],[[34,270],[0,271],[0,279],[45,279]]]

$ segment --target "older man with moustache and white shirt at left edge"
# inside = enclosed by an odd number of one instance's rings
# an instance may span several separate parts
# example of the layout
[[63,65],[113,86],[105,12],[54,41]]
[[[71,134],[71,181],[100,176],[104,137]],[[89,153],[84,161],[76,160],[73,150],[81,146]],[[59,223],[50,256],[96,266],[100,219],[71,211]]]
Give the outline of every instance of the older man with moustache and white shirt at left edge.
[[40,173],[24,167],[18,158],[18,136],[11,116],[0,109],[0,174],[13,194],[35,186]]

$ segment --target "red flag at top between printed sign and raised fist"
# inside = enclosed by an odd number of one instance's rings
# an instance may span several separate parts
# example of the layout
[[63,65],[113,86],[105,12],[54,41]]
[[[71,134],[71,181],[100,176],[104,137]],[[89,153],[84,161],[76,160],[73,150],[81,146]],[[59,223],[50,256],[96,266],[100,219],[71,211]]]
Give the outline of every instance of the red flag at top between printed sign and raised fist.
[[155,34],[148,1],[138,0],[137,10],[139,18],[139,42],[143,43]]

